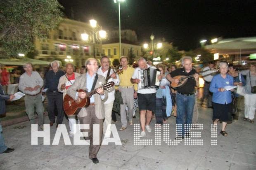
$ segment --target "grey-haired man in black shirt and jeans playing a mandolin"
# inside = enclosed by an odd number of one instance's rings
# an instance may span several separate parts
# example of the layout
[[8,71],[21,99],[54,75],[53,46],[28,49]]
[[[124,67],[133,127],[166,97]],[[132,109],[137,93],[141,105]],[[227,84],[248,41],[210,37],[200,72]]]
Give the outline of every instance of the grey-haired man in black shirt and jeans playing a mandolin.
[[[191,124],[193,117],[193,109],[195,102],[195,86],[199,87],[199,75],[196,70],[192,68],[192,58],[185,56],[180,59],[183,68],[178,68],[166,76],[172,84],[180,84],[181,77],[191,75],[187,82],[177,88],[176,103],[177,103],[177,117],[176,124],[182,124],[182,134],[178,139],[184,139],[185,130],[184,123]],[[189,134],[186,134],[189,137]],[[176,139],[176,138],[175,138]]]

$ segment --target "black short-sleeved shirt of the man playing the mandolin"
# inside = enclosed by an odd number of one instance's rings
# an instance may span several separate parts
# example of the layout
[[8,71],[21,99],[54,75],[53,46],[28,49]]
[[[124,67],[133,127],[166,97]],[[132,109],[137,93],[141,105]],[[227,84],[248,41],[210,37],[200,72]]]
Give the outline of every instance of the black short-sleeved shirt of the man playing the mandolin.
[[[189,75],[193,75],[196,73],[196,70],[192,69],[190,72],[186,72],[185,68],[178,68],[176,70],[174,70],[173,72],[170,73],[171,77],[175,77],[178,75],[182,75],[182,76],[189,76]],[[177,88],[178,93],[182,93],[182,94],[191,94],[194,93],[194,87],[196,86],[196,81],[194,79],[194,77],[191,77],[189,79],[187,79],[187,82]]]

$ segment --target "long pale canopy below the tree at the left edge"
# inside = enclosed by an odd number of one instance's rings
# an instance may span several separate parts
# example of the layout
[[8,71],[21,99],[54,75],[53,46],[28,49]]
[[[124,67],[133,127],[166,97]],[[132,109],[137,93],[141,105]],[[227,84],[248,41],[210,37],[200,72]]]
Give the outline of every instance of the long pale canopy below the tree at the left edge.
[[36,60],[31,58],[0,59],[0,64],[2,65],[24,65],[26,63],[32,63],[33,65],[49,65],[50,64],[50,62],[48,61]]

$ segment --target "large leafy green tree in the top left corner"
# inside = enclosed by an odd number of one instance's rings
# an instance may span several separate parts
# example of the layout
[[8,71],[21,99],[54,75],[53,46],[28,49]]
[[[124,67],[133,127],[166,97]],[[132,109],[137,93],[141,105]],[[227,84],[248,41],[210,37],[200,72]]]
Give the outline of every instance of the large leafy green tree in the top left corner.
[[46,39],[62,21],[57,0],[1,0],[0,46],[8,56],[33,51],[33,39]]

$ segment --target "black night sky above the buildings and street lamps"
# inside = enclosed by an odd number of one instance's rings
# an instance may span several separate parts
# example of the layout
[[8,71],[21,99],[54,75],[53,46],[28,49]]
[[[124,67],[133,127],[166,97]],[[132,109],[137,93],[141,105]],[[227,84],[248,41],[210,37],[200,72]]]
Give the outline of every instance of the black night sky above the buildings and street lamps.
[[[69,18],[96,19],[105,30],[118,29],[113,0],[59,0]],[[256,0],[126,0],[121,29],[132,29],[139,42],[165,38],[180,50],[200,47],[201,39],[256,36]]]

